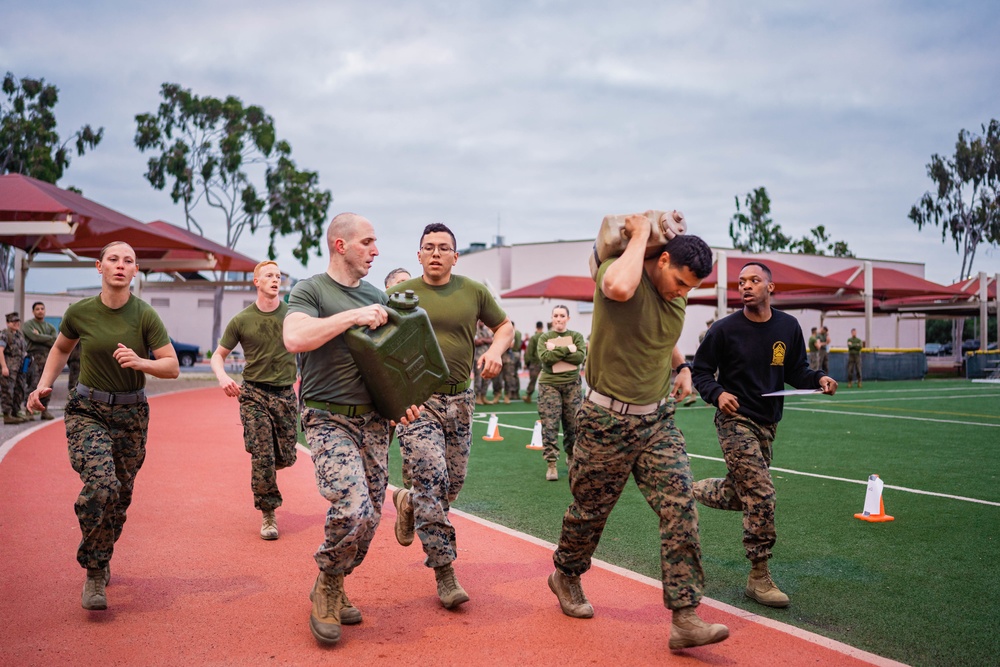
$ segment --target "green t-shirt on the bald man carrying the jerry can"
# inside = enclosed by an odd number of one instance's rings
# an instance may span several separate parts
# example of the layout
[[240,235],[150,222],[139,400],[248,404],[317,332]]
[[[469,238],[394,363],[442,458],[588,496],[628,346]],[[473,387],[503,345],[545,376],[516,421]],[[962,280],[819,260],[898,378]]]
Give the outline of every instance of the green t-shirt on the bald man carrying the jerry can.
[[[364,280],[357,287],[345,287],[329,274],[320,273],[295,284],[288,295],[288,312],[329,317],[345,310],[388,302],[385,292]],[[338,405],[372,402],[343,334],[315,350],[300,353],[299,357],[304,400]]]

